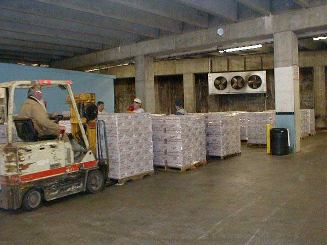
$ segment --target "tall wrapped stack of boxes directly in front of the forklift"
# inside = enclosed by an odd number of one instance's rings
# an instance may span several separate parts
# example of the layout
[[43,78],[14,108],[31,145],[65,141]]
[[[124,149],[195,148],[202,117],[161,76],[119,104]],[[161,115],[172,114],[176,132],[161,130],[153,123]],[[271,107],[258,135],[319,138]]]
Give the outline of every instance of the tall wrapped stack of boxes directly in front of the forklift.
[[105,125],[105,129],[99,126],[100,150],[106,158],[107,142],[109,178],[122,179],[153,171],[150,113],[101,114],[98,119]]

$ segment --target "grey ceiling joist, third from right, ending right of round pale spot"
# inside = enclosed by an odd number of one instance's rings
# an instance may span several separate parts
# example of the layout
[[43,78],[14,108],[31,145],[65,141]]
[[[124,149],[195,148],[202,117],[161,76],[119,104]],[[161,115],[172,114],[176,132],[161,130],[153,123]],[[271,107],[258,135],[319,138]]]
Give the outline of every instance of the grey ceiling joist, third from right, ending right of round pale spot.
[[237,22],[237,2],[233,0],[176,0],[187,6]]

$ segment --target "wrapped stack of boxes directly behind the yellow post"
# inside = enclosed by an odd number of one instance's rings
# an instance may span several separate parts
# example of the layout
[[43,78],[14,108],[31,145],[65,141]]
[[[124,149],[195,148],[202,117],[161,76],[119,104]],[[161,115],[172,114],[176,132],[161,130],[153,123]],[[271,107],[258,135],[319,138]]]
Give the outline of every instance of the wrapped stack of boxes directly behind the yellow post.
[[276,113],[266,112],[247,112],[247,142],[252,144],[267,143],[267,124],[271,128],[276,127]]

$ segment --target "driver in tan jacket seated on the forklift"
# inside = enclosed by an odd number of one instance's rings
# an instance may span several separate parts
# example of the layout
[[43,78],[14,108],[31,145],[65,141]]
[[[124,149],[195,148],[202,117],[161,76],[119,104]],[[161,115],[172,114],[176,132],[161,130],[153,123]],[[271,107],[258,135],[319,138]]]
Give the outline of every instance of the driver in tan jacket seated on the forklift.
[[30,118],[33,121],[35,130],[42,135],[59,135],[60,130],[65,130],[64,126],[59,126],[50,117],[58,113],[48,115],[43,103],[42,91],[39,86],[33,86],[28,91],[27,100],[21,105],[18,117]]

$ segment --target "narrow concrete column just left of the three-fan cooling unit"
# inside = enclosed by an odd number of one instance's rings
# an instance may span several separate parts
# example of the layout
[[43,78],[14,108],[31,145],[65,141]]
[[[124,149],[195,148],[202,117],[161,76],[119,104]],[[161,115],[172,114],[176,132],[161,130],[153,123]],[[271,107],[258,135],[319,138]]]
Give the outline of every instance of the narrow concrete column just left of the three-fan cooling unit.
[[193,73],[183,74],[184,87],[184,109],[188,113],[196,112],[195,104],[195,75]]

